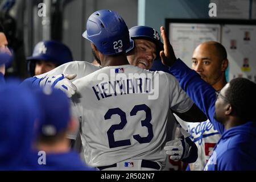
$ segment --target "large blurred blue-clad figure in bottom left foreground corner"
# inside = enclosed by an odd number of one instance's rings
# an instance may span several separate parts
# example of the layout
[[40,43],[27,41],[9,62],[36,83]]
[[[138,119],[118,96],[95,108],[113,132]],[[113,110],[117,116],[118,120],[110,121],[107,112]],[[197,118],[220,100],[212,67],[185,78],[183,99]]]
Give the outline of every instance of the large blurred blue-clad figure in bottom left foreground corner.
[[0,170],[26,168],[35,122],[40,118],[32,90],[18,84],[0,87]]

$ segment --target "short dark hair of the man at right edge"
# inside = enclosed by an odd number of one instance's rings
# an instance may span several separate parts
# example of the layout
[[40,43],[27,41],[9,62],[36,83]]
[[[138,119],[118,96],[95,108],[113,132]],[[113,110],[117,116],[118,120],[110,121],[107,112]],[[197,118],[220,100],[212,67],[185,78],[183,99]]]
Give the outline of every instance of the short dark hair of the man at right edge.
[[246,78],[235,78],[229,84],[226,97],[234,108],[234,115],[245,121],[256,121],[256,84]]

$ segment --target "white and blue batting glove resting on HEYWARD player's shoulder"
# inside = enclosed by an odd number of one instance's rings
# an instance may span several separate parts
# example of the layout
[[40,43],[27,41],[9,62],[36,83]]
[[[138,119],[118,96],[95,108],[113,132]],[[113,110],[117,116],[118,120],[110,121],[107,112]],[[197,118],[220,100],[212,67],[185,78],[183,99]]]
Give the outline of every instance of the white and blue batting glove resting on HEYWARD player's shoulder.
[[43,77],[40,81],[40,86],[51,86],[56,89],[62,90],[71,98],[77,91],[76,85],[74,85],[71,80],[76,78],[77,75],[57,75]]

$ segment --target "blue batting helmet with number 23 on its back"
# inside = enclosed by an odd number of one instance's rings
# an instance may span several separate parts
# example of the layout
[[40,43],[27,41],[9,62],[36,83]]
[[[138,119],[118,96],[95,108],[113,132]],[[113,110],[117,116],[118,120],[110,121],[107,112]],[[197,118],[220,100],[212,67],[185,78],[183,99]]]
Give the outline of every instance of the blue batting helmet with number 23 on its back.
[[126,52],[130,47],[129,30],[115,11],[98,10],[90,15],[82,36],[92,42],[104,55]]

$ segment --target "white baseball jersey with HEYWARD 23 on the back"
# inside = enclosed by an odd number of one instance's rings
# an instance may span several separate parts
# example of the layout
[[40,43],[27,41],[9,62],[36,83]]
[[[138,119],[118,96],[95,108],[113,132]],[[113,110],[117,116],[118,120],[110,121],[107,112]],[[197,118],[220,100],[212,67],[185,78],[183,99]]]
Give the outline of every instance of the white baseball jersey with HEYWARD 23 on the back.
[[184,113],[193,105],[173,76],[133,65],[105,67],[73,83],[79,94],[72,110],[93,167],[128,159],[164,164],[168,110]]

